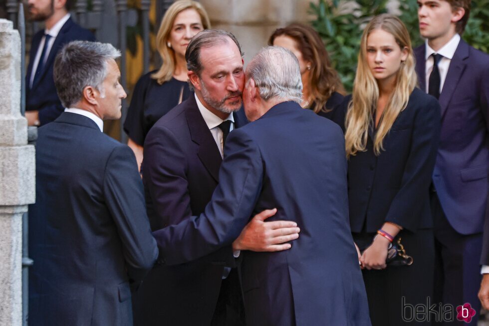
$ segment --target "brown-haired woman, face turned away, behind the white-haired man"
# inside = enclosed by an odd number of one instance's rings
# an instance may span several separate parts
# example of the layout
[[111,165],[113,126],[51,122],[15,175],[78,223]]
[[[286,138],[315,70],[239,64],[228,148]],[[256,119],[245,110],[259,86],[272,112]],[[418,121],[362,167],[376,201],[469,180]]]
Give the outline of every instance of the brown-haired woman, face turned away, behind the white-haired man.
[[295,23],[276,29],[268,44],[285,47],[297,57],[303,87],[301,106],[333,119],[345,90],[319,34],[310,26]]

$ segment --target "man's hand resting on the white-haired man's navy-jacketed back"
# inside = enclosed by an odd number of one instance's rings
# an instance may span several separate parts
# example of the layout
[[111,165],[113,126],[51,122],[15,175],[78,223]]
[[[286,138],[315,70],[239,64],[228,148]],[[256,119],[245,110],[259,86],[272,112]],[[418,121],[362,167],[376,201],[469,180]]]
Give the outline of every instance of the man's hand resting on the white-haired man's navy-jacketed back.
[[291,245],[286,242],[297,239],[300,229],[297,223],[291,221],[264,222],[276,212],[274,208],[256,214],[233,242],[233,251],[273,252],[290,249]]

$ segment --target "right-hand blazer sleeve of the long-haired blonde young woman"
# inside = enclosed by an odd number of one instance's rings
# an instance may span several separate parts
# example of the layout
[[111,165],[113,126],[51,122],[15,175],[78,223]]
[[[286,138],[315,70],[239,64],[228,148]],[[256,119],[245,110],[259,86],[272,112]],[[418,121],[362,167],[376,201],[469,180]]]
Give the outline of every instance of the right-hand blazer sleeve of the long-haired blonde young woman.
[[[426,96],[428,97],[428,96]],[[440,104],[434,97],[420,103],[415,115],[410,152],[401,187],[394,197],[385,221],[416,231],[419,216],[416,207],[426,197],[431,183],[440,139]],[[413,209],[414,208],[414,209]]]

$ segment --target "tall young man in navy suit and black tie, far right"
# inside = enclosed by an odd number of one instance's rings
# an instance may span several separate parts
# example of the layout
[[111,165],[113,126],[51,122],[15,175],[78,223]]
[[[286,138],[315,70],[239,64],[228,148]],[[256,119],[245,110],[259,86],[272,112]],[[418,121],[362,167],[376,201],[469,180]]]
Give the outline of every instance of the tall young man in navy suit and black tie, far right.
[[415,49],[416,70],[421,89],[439,99],[442,114],[432,185],[435,299],[455,306],[470,303],[479,313],[479,260],[488,203],[489,56],[461,39],[470,0],[418,4],[426,44]]

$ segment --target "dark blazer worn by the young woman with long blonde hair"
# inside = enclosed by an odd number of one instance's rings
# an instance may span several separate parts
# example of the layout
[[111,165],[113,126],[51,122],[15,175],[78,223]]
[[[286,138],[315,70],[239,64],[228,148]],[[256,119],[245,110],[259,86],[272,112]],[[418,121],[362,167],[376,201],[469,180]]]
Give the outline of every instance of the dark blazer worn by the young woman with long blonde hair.
[[[350,100],[348,96],[343,102],[343,112]],[[344,129],[344,118],[340,120]],[[410,231],[433,227],[429,186],[440,123],[438,101],[415,88],[384,138],[379,156],[373,152],[375,131],[369,129],[366,151],[350,156],[348,162],[352,232],[376,232],[384,222]]]

